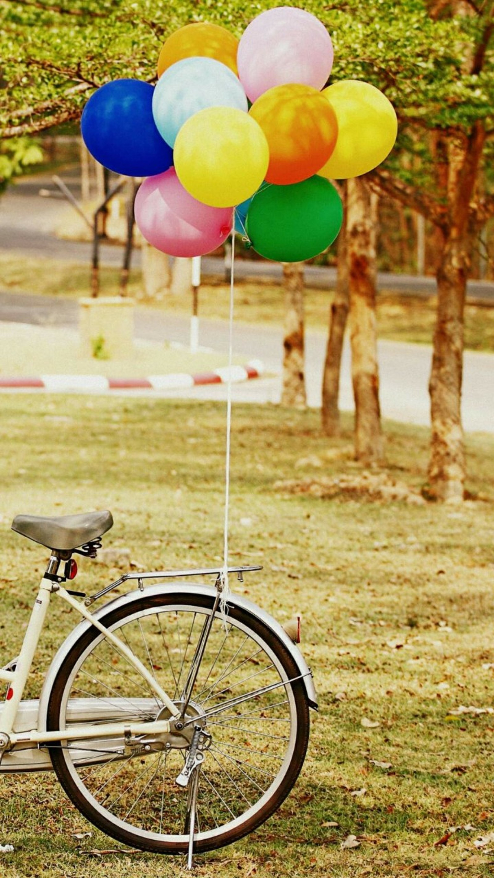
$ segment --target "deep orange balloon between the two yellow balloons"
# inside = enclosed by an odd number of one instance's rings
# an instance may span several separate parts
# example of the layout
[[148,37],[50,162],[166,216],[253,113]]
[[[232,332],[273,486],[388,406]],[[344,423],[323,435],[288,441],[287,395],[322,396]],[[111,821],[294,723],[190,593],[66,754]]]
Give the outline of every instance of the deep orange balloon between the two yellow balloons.
[[269,146],[268,183],[301,183],[326,164],[338,137],[327,98],[310,85],[276,85],[258,97],[249,115]]

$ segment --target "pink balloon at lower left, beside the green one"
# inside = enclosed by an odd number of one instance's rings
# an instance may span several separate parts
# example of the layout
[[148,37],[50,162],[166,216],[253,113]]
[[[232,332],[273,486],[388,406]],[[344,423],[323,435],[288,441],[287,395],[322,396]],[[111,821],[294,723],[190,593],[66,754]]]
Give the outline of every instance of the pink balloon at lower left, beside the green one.
[[157,250],[170,256],[202,256],[232,231],[231,207],[209,207],[192,198],[170,168],[148,176],[135,198],[135,221]]

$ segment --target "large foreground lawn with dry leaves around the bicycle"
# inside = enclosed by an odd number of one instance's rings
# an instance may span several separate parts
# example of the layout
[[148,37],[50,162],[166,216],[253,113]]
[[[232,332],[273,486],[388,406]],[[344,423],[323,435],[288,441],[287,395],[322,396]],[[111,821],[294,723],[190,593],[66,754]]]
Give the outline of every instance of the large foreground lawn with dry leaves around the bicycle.
[[[104,544],[128,549],[136,570],[221,561],[225,420],[225,406],[213,403],[3,397],[5,660],[17,654],[46,560],[11,532],[17,513],[110,508],[115,526]],[[388,469],[366,474],[344,423],[330,442],[317,412],[233,408],[230,560],[263,565],[233,586],[282,622],[301,611],[320,709],[281,810],[251,837],[198,857],[195,873],[487,878],[494,439],[468,437],[477,499],[439,506],[419,501],[426,429],[385,424]],[[379,479],[401,486],[405,499],[369,500]],[[81,566],[75,587],[88,592],[121,572]],[[54,601],[29,695],[74,615]],[[86,831],[92,836],[75,838]],[[358,846],[344,846],[349,836]],[[0,777],[0,844],[8,843],[15,850],[0,853],[3,878],[186,874],[183,859],[111,853],[120,846],[79,816],[50,774]]]

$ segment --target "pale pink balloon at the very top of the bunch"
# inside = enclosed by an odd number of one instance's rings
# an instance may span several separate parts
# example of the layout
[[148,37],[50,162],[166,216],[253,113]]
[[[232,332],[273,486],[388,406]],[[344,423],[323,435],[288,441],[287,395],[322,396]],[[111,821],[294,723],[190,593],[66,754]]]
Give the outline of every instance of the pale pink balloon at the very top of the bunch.
[[276,85],[301,83],[322,89],[333,67],[333,43],[310,12],[277,6],[261,12],[240,39],[240,82],[254,101]]

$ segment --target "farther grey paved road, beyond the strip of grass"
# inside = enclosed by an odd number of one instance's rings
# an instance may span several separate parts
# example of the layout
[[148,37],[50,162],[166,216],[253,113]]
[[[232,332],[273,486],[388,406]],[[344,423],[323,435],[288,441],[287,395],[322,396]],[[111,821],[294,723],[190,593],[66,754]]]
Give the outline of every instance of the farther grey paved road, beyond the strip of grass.
[[[64,182],[74,194],[80,198],[79,177],[75,171],[66,171]],[[49,189],[56,193],[56,186],[50,176],[31,177],[21,180],[16,186],[7,190],[0,199],[0,249],[13,250],[25,255],[46,255],[57,259],[80,261],[89,265],[91,245],[82,241],[61,241],[54,237],[62,211],[70,210],[68,202],[59,198],[41,198],[40,189]],[[102,264],[121,265],[123,249],[118,245],[102,245],[100,248]],[[140,264],[140,251],[132,254],[132,263]],[[222,276],[224,264],[220,259],[204,256],[203,274]],[[235,263],[236,277],[281,277],[282,267],[279,263],[266,260],[240,260]],[[326,266],[307,266],[305,269],[307,284],[322,289],[329,289],[336,277],[336,271]],[[394,290],[404,293],[431,295],[436,289],[433,277],[417,277],[415,275],[391,275],[379,273],[377,285],[380,290]],[[0,278],[1,286],[1,278]],[[474,299],[494,300],[494,283],[492,281],[469,281],[468,295]]]

